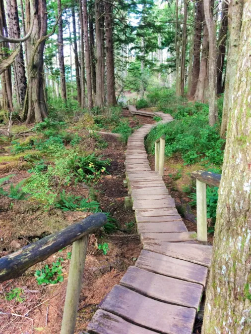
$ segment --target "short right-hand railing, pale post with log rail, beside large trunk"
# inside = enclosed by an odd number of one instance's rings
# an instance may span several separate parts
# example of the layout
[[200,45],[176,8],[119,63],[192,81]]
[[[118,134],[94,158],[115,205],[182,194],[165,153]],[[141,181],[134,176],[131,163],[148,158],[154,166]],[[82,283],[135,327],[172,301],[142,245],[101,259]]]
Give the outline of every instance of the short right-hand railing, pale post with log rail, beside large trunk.
[[207,216],[206,216],[206,185],[219,187],[221,174],[205,171],[194,171],[191,177],[196,179],[197,205],[197,240],[207,243]]

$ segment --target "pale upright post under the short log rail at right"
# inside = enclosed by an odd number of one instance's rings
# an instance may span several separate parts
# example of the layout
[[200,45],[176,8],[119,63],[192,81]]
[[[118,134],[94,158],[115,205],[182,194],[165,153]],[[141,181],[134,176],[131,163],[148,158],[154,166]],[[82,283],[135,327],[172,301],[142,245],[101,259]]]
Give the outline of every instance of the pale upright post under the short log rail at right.
[[196,179],[197,240],[207,244],[206,184]]

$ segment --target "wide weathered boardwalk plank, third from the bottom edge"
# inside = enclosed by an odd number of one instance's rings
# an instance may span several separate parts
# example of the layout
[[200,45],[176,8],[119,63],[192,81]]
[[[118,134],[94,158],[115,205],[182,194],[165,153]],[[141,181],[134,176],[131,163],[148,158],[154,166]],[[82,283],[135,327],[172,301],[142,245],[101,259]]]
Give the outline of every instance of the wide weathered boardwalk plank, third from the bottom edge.
[[120,284],[148,297],[198,309],[203,286],[129,267]]

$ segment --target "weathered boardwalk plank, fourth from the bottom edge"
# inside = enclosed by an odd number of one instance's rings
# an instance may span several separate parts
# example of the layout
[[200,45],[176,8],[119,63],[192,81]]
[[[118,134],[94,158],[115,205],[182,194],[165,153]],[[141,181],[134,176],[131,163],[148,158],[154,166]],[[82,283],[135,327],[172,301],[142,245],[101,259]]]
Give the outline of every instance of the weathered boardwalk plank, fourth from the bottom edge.
[[206,284],[207,267],[143,249],[136,267],[184,281]]

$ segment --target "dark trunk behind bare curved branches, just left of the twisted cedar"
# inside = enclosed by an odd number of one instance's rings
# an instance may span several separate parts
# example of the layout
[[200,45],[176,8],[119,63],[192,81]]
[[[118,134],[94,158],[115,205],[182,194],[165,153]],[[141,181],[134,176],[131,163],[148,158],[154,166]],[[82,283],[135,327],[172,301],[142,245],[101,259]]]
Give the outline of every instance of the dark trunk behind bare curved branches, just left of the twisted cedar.
[[[9,37],[18,39],[20,38],[20,27],[19,27],[17,3],[16,0],[7,0],[6,3],[7,3],[7,13],[8,13]],[[15,44],[12,44],[12,48],[15,48]],[[20,107],[23,107],[27,82],[25,76],[22,44],[20,45],[20,51],[17,57],[15,58],[14,73],[15,73],[14,77],[15,77],[17,102]]]

